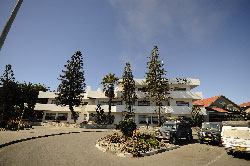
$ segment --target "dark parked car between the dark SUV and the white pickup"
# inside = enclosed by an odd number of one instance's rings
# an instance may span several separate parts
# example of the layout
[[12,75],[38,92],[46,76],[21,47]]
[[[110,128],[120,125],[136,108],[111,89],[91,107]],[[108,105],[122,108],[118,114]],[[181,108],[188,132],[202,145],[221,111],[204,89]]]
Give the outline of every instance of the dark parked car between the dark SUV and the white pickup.
[[218,143],[221,146],[221,122],[204,122],[198,132],[200,143]]

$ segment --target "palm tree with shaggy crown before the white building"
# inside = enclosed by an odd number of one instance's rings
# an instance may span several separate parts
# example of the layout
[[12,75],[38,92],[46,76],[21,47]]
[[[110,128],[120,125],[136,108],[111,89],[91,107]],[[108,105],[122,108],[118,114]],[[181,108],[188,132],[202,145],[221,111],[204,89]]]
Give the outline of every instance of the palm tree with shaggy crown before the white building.
[[101,84],[103,85],[103,92],[105,92],[105,96],[109,98],[109,112],[108,112],[108,122],[112,124],[114,121],[114,117],[111,116],[111,103],[112,99],[115,97],[115,85],[118,83],[118,78],[115,74],[109,73],[105,77],[103,77]]

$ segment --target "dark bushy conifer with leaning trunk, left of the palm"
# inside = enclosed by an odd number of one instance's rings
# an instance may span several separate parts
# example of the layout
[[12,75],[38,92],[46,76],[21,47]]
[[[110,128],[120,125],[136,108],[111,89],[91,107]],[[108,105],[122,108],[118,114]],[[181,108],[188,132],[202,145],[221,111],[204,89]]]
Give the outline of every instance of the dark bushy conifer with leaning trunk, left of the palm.
[[77,113],[74,111],[74,106],[79,106],[82,103],[83,93],[85,92],[85,79],[83,71],[83,58],[80,51],[76,51],[72,55],[71,60],[64,65],[66,70],[62,70],[63,75],[60,75],[61,81],[58,86],[57,100],[60,105],[69,106],[69,109],[76,122]]

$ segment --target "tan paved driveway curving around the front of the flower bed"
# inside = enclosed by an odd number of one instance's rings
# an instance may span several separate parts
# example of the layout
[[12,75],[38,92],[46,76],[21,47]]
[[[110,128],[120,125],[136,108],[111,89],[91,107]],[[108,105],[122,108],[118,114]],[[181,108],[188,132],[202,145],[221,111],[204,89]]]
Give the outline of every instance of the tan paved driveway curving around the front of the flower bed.
[[248,156],[228,155],[223,147],[188,144],[143,158],[122,158],[99,151],[98,138],[108,132],[38,138],[0,149],[0,166],[249,166]]

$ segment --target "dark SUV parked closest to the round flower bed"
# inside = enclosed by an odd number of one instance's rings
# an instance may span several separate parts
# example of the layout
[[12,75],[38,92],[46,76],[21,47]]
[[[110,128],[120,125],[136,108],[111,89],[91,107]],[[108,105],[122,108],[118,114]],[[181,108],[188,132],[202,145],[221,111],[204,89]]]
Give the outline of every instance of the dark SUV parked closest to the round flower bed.
[[180,138],[186,138],[188,141],[193,139],[192,129],[189,122],[165,122],[161,128],[155,131],[158,138],[167,138],[172,144],[176,144]]

